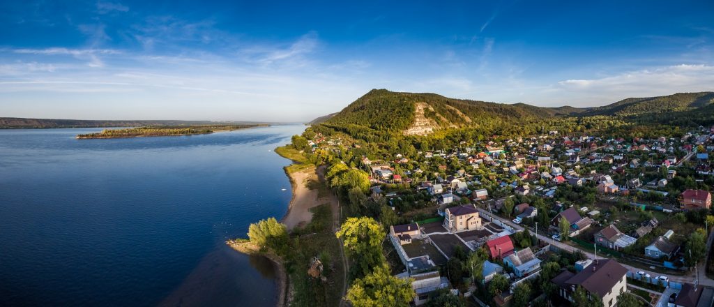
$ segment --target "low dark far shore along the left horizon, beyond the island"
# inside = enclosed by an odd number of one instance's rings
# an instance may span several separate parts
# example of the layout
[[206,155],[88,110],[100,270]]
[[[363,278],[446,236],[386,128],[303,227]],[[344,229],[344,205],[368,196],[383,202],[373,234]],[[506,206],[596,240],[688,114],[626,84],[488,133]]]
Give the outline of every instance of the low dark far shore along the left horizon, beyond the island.
[[139,126],[205,126],[266,124],[251,121],[94,121],[83,119],[21,119],[0,117],[0,129],[22,128],[99,128]]

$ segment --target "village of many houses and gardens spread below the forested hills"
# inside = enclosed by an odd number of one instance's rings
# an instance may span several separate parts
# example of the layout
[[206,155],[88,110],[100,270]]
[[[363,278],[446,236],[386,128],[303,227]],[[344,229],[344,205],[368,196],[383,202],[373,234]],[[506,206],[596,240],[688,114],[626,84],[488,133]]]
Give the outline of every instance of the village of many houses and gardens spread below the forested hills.
[[[608,307],[623,292],[646,306],[712,306],[712,140],[714,127],[628,140],[547,131],[358,167],[403,222],[385,253],[412,278],[416,306],[443,291],[474,306],[568,306],[576,288]],[[358,148],[319,134],[309,146]]]

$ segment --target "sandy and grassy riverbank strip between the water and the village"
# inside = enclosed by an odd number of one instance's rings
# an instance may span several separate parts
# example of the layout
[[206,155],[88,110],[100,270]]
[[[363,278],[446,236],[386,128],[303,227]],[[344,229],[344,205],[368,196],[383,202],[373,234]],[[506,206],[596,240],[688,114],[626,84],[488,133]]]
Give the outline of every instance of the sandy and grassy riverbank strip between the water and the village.
[[[226,243],[236,251],[265,256],[274,263],[278,306],[336,306],[344,295],[346,272],[341,243],[333,233],[333,227],[338,223],[338,215],[334,214],[338,212],[338,204],[322,182],[322,176],[318,176],[325,169],[316,168],[302,153],[289,146],[278,147],[275,151],[293,161],[284,168],[291,181],[293,196],[281,223],[290,231],[291,241],[299,243],[291,246],[285,258],[272,251],[261,251],[246,239]],[[314,257],[320,258],[328,268],[323,277],[329,282],[307,275],[307,266]],[[291,268],[291,273],[287,273],[286,267]]]

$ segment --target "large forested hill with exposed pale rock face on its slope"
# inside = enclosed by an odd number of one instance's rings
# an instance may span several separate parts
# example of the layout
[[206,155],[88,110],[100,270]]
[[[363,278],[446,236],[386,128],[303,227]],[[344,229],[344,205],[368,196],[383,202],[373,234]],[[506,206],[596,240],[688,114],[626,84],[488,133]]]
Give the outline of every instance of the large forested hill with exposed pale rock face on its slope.
[[370,129],[391,134],[426,135],[439,129],[491,128],[532,119],[572,116],[587,109],[543,108],[451,99],[429,93],[373,89],[325,121],[328,126]]

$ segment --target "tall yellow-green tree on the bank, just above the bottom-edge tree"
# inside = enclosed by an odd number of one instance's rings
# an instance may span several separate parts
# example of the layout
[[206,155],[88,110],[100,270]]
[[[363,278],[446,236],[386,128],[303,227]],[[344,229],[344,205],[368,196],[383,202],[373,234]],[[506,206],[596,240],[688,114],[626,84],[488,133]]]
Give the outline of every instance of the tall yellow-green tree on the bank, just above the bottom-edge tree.
[[384,263],[382,240],[385,236],[382,226],[373,218],[348,218],[337,231],[343,239],[348,254],[354,259],[356,276],[366,276],[372,268]]

